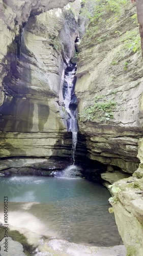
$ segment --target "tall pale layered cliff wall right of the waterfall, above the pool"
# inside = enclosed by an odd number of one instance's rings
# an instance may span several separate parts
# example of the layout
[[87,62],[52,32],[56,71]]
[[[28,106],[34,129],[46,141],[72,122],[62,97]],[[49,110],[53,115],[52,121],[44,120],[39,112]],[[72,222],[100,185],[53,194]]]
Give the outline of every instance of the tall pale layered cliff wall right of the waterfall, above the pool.
[[90,26],[92,39],[87,36],[81,40],[75,91],[80,114],[94,104],[96,97],[97,105],[116,103],[111,111],[113,118],[105,109],[101,115],[100,110],[95,112],[92,122],[79,122],[81,134],[88,136],[89,158],[133,173],[139,164],[138,140],[142,137],[143,69],[141,50],[129,50],[133,35],[139,38],[139,32],[132,19],[135,6],[129,3],[128,8],[114,26],[109,26],[113,16],[108,16],[108,20],[104,17],[106,22],[100,20]]

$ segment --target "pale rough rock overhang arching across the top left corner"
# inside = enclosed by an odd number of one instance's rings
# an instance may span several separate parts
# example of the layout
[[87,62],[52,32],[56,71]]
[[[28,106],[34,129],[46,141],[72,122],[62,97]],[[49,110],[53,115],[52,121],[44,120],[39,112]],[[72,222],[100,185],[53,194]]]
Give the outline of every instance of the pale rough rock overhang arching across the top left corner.
[[0,49],[0,104],[3,103],[5,94],[3,91],[3,78],[5,77],[7,47],[12,43],[15,35],[19,34],[22,24],[26,23],[28,17],[43,13],[53,8],[63,8],[74,0],[1,0],[0,1],[0,22],[1,22],[1,49]]

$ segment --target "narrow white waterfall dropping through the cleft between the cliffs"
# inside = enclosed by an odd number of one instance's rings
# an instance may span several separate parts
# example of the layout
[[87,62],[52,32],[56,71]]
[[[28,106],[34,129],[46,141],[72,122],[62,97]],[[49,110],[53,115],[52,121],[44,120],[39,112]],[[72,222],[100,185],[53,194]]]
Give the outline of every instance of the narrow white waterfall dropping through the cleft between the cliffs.
[[77,133],[78,133],[78,123],[77,123],[77,98],[74,93],[75,83],[76,83],[76,69],[77,66],[71,62],[67,66],[63,81],[63,96],[65,109],[68,113],[67,127],[68,132],[72,132],[72,150],[73,150],[73,163],[75,163],[75,150],[77,144]]

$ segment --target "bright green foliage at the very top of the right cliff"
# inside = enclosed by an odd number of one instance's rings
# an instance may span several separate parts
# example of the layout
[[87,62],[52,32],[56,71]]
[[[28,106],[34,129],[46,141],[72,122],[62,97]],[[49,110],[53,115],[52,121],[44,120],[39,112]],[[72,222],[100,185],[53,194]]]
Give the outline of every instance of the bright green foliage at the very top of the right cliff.
[[[87,31],[83,37],[83,41],[87,44],[92,43],[93,39],[97,37],[99,42],[104,41],[105,38],[98,37],[99,27],[109,27],[109,24],[120,20],[122,14],[129,8],[128,0],[82,0],[81,17],[87,17]],[[112,20],[112,18],[114,20]],[[116,31],[117,36],[121,33]],[[98,41],[97,41],[98,42]],[[96,41],[94,42],[96,44]]]

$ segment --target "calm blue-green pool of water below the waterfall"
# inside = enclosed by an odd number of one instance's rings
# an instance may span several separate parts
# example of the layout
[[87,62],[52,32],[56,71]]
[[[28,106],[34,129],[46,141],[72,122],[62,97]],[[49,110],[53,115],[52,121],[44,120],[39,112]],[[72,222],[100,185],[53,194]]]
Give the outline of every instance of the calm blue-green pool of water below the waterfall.
[[69,242],[119,244],[114,215],[108,212],[110,194],[104,186],[80,178],[12,176],[0,178],[0,195],[0,218],[4,196],[8,196],[12,225]]

